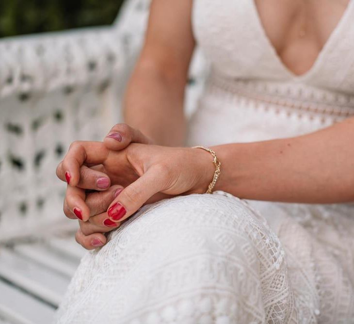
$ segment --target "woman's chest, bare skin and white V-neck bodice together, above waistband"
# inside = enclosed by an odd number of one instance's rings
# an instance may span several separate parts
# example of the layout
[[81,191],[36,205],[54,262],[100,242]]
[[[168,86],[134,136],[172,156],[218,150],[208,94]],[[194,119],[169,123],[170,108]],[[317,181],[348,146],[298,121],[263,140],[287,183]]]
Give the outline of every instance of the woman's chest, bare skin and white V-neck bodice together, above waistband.
[[306,82],[353,93],[354,0],[305,4],[193,0],[194,37],[212,70],[224,77]]

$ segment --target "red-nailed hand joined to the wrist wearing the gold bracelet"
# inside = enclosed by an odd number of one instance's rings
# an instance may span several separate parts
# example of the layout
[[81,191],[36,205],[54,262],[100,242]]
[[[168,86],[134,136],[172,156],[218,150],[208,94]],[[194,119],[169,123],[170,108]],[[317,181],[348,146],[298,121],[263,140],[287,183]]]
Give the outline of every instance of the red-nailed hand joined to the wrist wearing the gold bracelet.
[[82,165],[102,164],[111,184],[125,187],[107,211],[114,222],[128,218],[158,193],[204,193],[215,170],[211,155],[202,149],[132,143],[112,151],[101,142],[75,143],[57,175],[65,181],[65,173],[69,172],[69,186],[75,187]]

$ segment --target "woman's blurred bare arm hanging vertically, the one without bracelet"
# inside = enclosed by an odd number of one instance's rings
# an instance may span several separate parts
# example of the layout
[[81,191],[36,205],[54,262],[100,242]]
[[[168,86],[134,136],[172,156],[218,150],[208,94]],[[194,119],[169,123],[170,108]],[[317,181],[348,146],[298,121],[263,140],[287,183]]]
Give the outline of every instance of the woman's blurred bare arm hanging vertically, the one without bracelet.
[[183,146],[184,88],[194,49],[192,1],[153,0],[125,96],[125,121],[156,144]]

